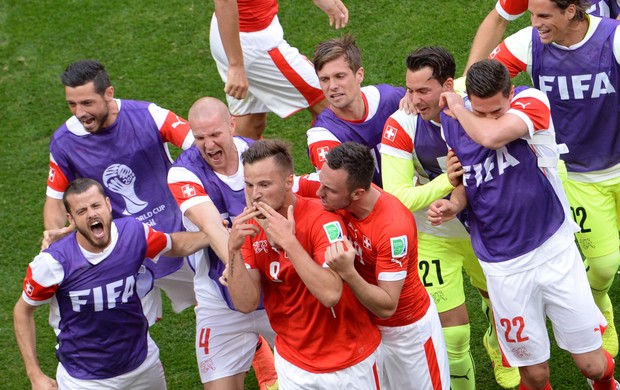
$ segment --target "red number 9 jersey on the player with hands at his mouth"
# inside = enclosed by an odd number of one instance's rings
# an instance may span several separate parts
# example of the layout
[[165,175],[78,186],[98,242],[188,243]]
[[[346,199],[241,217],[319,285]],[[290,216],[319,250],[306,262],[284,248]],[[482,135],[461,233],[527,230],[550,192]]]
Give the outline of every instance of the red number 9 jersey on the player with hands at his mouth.
[[[317,264],[325,266],[325,249],[344,237],[342,219],[325,211],[318,200],[299,196],[294,217],[297,239]],[[269,245],[262,229],[246,239],[242,253],[245,262],[260,271],[276,348],[288,362],[314,373],[334,372],[361,362],[379,346],[379,331],[346,284],[336,306],[323,306],[287,254]]]

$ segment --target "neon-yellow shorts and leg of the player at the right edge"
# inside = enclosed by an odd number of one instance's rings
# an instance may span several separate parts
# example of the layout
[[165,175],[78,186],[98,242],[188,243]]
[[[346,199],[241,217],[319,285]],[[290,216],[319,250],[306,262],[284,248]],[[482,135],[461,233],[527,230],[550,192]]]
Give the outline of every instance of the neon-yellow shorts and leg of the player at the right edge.
[[601,183],[582,183],[565,178],[563,185],[573,218],[581,228],[575,235],[586,258],[584,265],[592,295],[609,324],[603,334],[603,348],[616,356],[618,336],[608,291],[620,264],[617,200],[620,178]]

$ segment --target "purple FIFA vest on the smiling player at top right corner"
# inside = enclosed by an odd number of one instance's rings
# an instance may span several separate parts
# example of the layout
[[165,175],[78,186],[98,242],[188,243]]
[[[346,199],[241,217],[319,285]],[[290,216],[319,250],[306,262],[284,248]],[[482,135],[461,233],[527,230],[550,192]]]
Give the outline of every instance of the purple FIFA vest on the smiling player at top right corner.
[[619,22],[603,18],[575,50],[542,44],[532,31],[532,80],[551,102],[561,156],[569,172],[591,172],[620,163],[620,67],[613,54]]

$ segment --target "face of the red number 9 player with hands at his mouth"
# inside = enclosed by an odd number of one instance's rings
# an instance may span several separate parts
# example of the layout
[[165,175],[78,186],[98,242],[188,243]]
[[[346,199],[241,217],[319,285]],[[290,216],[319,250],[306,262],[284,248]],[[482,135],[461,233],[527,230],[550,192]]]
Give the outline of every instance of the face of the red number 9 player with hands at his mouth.
[[277,212],[286,215],[286,196],[293,187],[293,175],[282,171],[269,157],[253,164],[245,164],[246,200],[252,203],[264,202]]

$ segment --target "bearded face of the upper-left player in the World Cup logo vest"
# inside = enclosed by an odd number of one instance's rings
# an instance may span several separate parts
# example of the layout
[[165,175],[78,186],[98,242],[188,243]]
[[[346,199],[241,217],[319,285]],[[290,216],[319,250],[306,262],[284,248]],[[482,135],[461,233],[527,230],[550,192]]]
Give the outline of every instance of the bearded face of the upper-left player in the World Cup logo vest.
[[95,83],[89,82],[78,87],[65,87],[69,109],[89,133],[96,133],[106,127],[109,109],[108,101],[113,98],[112,87],[104,95],[95,92]]

